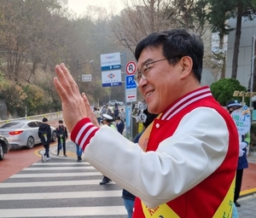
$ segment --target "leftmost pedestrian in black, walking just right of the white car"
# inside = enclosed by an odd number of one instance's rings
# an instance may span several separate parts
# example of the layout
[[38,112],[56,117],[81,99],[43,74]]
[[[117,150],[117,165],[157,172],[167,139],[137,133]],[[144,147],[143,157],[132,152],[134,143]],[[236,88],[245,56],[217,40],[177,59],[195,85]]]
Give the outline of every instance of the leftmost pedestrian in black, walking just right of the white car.
[[49,158],[49,143],[51,139],[51,129],[48,124],[48,119],[43,118],[43,123],[38,128],[38,137],[41,140],[43,146],[44,146],[44,154],[42,154],[42,162],[44,163],[47,160],[50,160]]

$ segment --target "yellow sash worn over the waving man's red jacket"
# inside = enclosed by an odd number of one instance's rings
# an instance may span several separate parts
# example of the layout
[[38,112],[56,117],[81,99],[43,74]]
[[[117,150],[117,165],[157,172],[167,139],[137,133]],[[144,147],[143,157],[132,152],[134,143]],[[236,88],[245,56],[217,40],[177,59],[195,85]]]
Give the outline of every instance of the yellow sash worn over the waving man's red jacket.
[[[157,117],[160,118],[160,115]],[[154,122],[153,122],[154,123]],[[145,129],[143,132],[143,135],[140,137],[138,141],[138,145],[143,148],[143,151],[147,151],[148,146],[148,139],[151,133],[151,129],[153,126],[153,123],[150,123],[148,125],[148,128]],[[218,209],[216,210],[215,214],[212,216],[213,218],[219,218],[219,217],[231,217],[232,215],[232,207],[233,207],[233,198],[234,198],[234,189],[235,189],[235,178],[232,181],[230,185],[230,189],[227,192],[224,200],[219,205]],[[179,218],[179,216],[167,205],[167,204],[161,204],[157,206],[156,208],[148,208],[145,204],[142,203],[143,207],[143,214],[146,218]]]

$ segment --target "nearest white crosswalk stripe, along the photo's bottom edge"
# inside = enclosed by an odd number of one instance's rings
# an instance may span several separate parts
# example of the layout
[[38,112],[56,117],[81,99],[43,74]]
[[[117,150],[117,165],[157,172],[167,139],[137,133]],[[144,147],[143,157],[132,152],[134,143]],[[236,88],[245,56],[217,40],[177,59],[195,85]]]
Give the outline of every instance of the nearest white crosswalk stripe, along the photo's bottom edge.
[[0,209],[2,218],[9,217],[67,217],[84,215],[126,215],[125,206],[106,207],[70,207],[70,208],[35,208],[35,209]]

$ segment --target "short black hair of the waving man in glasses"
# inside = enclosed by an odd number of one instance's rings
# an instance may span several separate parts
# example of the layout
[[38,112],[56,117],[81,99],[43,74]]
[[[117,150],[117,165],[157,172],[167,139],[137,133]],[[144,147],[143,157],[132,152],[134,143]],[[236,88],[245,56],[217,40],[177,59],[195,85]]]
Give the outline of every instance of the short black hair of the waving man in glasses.
[[139,59],[145,48],[162,48],[163,55],[172,65],[176,65],[183,56],[189,56],[193,60],[192,71],[199,83],[201,82],[204,44],[200,36],[189,33],[185,29],[153,32],[137,44],[136,60]]

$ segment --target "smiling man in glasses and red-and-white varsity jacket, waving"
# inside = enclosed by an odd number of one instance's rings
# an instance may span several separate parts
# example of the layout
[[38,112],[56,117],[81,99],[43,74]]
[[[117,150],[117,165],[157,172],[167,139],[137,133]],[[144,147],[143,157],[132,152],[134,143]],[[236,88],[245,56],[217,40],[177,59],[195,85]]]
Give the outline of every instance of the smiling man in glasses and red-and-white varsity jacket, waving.
[[135,81],[148,112],[160,114],[139,146],[100,127],[67,67],[55,66],[71,139],[102,175],[136,196],[133,218],[232,213],[238,133],[211,89],[201,87],[203,52],[201,37],[184,29],[154,32],[137,44]]

